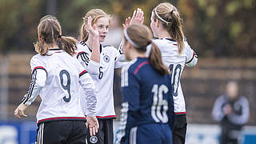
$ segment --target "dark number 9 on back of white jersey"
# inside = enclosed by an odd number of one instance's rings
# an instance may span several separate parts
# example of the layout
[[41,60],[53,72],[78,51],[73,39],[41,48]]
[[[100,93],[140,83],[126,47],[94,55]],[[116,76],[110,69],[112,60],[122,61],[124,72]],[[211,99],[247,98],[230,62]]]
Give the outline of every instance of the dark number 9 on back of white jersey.
[[[67,81],[66,81],[66,86],[64,85],[64,79],[63,79],[63,75],[66,75],[66,79],[67,79]],[[66,98],[66,95],[63,97],[63,100],[65,101],[65,102],[70,102],[70,99],[71,99],[71,94],[70,94],[70,73],[68,72],[68,71],[66,71],[66,70],[62,70],[60,73],[59,73],[59,78],[60,78],[60,80],[61,80],[61,85],[62,85],[62,88],[64,89],[64,90],[66,90],[67,91],[67,93],[69,94],[68,95],[68,98]]]

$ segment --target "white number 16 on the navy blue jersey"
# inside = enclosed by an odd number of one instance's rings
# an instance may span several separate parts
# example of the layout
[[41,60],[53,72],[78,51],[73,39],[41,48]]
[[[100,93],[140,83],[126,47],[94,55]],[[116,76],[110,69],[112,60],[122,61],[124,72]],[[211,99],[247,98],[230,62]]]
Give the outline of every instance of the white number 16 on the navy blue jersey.
[[162,94],[167,94],[168,91],[169,90],[166,85],[158,86],[157,84],[154,84],[153,89],[151,90],[151,92],[154,93],[151,116],[155,122],[168,122],[168,117],[166,114],[166,111],[168,110],[168,102],[162,98]]

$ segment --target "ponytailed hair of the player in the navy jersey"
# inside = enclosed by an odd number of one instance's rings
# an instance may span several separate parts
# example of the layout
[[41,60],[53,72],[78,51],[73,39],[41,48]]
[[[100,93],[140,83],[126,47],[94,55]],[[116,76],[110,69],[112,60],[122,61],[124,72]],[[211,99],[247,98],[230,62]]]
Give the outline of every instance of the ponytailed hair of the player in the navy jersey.
[[[135,44],[134,48],[140,53],[145,53],[146,46],[151,44],[152,47],[149,56],[150,65],[162,75],[169,74],[169,70],[162,62],[162,56],[158,46],[151,41],[153,35],[147,26],[141,24],[128,26],[126,29],[126,34],[128,38]],[[129,40],[125,36],[125,42],[127,41]]]

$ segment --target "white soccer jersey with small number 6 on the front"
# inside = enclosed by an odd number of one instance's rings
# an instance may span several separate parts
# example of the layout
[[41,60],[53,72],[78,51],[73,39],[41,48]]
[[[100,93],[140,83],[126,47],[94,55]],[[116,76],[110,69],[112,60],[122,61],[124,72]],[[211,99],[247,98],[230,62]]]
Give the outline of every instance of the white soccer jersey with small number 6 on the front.
[[[113,82],[114,69],[121,68],[122,54],[114,46],[100,45],[100,63],[90,60],[92,51],[85,42],[78,43],[77,58],[94,79],[97,95],[97,118],[115,118]],[[86,113],[86,112],[85,112]]]

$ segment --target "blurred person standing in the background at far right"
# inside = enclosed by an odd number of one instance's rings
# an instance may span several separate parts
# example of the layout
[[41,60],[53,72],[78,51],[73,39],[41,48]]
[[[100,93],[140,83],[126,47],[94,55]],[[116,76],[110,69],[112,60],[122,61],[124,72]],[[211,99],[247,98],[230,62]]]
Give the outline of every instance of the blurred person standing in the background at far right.
[[212,115],[215,121],[220,122],[220,143],[237,144],[242,137],[242,127],[250,116],[248,100],[238,93],[237,82],[227,83],[226,94],[217,98]]

